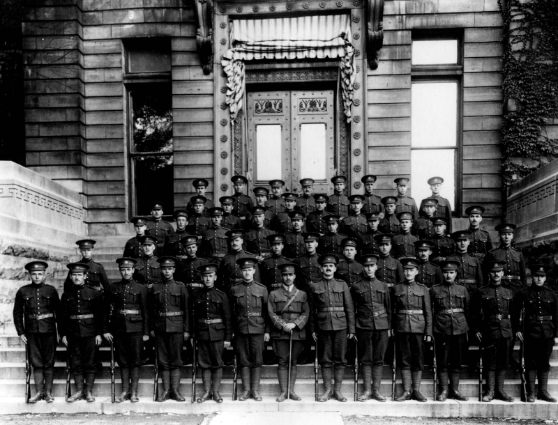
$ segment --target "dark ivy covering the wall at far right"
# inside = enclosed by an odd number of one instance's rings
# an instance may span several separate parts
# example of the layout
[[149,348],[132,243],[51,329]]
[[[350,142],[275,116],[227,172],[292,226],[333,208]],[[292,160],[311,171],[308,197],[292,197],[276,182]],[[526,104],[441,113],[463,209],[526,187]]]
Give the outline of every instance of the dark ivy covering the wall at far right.
[[502,169],[513,183],[558,157],[558,2],[498,0],[504,17]]

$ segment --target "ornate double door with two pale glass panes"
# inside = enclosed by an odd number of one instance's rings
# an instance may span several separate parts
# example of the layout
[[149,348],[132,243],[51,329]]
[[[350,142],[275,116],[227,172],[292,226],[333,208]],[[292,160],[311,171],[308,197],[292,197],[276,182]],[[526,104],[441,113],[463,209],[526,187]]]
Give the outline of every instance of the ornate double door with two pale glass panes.
[[285,192],[301,192],[313,178],[315,193],[331,193],[335,173],[333,90],[252,91],[248,98],[248,172],[254,186],[285,181]]

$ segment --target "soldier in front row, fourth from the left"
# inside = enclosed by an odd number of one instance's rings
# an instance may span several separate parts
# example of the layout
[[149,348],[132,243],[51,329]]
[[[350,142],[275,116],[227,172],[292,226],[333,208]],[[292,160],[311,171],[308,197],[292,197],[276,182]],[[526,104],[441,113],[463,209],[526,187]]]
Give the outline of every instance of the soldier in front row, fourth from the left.
[[156,401],[186,401],[179,389],[183,341],[190,339],[188,291],[182,282],[174,281],[176,258],[164,256],[157,261],[163,279],[153,284],[151,337],[155,339],[164,391]]

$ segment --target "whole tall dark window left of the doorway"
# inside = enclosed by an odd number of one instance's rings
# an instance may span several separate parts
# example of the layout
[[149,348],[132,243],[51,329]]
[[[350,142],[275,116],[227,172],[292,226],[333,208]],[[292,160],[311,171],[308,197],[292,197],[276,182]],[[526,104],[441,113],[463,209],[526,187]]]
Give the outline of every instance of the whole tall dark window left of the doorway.
[[174,210],[172,87],[168,38],[125,42],[130,190],[133,214],[154,201]]

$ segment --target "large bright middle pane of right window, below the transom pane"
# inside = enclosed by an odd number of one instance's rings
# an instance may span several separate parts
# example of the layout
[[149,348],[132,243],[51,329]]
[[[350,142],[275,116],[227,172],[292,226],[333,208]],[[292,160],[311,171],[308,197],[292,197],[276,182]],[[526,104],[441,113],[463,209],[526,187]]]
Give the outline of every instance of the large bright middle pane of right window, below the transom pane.
[[413,83],[411,96],[412,146],[457,146],[457,82]]

